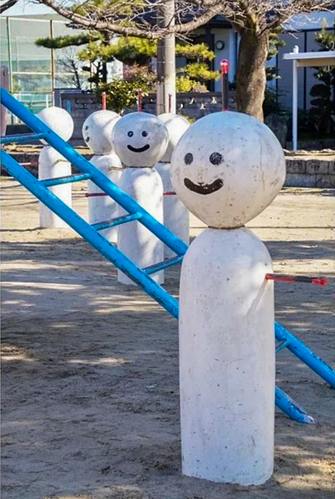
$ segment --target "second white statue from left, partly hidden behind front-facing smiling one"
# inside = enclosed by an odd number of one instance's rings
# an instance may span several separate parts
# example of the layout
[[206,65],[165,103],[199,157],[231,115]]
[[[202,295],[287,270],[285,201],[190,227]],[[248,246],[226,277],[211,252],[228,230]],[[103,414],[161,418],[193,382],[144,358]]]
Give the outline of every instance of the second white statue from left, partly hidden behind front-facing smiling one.
[[[82,128],[84,141],[94,153],[90,162],[115,184],[119,183],[122,163],[113,151],[111,137],[113,127],[119,118],[120,116],[113,111],[96,111],[84,121]],[[87,182],[87,194],[90,224],[105,222],[118,216],[118,204],[110,196],[99,196],[104,192],[91,180]],[[116,227],[104,229],[100,233],[111,243],[117,243]]]

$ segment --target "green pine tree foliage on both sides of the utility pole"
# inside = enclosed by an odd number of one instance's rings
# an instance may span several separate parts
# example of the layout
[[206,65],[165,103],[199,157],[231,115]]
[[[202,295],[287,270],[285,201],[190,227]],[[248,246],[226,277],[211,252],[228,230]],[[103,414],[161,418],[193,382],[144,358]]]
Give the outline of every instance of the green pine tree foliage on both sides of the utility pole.
[[[94,84],[99,98],[102,92],[107,93],[107,106],[114,111],[121,112],[135,104],[138,88],[144,94],[155,91],[156,73],[151,61],[157,53],[157,40],[133,36],[110,40],[102,33],[88,32],[54,39],[38,38],[35,43],[53,49],[85,44],[77,54],[79,60],[89,63],[82,66],[82,69],[90,72],[88,81]],[[177,92],[207,91],[206,83],[220,77],[218,71],[212,71],[208,67],[208,62],[214,58],[214,52],[205,43],[179,42],[175,47],[175,55],[185,57],[188,61],[184,67],[177,69]],[[107,83],[106,65],[114,60],[123,62],[124,78]]]

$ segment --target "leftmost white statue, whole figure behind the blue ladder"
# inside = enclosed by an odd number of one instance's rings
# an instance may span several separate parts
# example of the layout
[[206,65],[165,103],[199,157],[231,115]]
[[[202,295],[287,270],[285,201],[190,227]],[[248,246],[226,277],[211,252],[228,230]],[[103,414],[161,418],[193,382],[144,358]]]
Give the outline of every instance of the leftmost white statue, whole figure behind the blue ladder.
[[[63,140],[69,140],[73,133],[73,120],[71,115],[61,107],[51,106],[37,114],[38,118],[56,132]],[[71,175],[71,164],[56,149],[46,144],[38,158],[38,179],[52,179]],[[48,188],[63,203],[72,206],[72,185],[61,184]],[[68,228],[69,226],[47,208],[39,204],[39,223],[43,228]]]

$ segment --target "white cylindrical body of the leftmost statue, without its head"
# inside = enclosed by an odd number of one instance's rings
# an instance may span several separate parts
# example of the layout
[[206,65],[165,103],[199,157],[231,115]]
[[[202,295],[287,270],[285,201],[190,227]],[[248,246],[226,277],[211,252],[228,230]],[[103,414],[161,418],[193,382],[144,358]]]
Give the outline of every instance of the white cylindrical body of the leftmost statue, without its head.
[[[44,146],[38,158],[38,179],[53,179],[71,175],[71,164],[56,149]],[[71,208],[72,184],[48,187],[57,198]],[[69,226],[43,203],[39,204],[39,223],[43,228],[68,228]]]

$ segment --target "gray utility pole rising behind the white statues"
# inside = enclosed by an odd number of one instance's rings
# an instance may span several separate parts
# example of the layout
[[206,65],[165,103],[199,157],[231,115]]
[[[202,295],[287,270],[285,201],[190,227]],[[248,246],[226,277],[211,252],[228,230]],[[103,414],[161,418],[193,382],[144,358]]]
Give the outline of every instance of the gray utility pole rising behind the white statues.
[[[174,24],[174,0],[166,0],[158,11],[160,27]],[[175,36],[168,35],[157,43],[157,114],[175,114]]]

